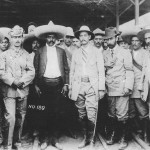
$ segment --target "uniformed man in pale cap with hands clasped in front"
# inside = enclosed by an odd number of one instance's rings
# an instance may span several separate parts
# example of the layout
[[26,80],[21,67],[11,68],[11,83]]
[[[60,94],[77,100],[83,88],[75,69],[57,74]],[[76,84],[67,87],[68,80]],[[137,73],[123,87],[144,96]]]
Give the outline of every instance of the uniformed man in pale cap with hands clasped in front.
[[23,28],[16,25],[11,30],[12,47],[0,56],[0,79],[3,82],[5,105],[4,149],[21,146],[21,135],[26,115],[29,84],[35,70],[28,52],[22,46]]

